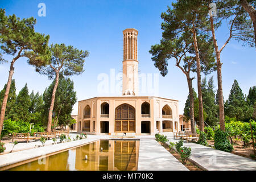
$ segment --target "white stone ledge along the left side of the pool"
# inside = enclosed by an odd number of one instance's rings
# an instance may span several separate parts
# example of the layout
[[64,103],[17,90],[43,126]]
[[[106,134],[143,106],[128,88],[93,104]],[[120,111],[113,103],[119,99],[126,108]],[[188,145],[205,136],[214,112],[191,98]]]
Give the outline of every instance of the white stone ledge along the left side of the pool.
[[[44,155],[61,152],[64,150],[68,150],[69,148],[96,142],[97,140],[100,140],[100,138],[86,138],[72,142],[59,143],[51,146],[32,148],[29,150],[0,155],[0,171],[19,166],[21,162],[25,162],[30,159],[32,161],[33,159],[40,158]],[[17,165],[14,166],[14,164]]]

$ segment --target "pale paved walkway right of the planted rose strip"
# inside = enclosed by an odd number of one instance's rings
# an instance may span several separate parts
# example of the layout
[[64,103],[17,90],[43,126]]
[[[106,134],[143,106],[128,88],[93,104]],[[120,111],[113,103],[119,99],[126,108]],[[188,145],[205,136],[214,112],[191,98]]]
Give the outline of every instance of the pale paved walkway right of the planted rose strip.
[[[167,137],[171,142],[177,142],[173,137]],[[196,143],[187,143],[184,146],[191,147],[191,159],[201,168],[209,171],[256,171],[256,161],[239,155],[216,150]]]

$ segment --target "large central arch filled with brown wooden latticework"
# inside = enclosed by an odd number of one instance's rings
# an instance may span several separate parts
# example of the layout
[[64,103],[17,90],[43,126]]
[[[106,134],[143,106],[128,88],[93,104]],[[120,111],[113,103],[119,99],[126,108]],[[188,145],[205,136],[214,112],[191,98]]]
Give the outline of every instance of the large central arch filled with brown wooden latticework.
[[115,132],[135,133],[135,109],[133,106],[122,104],[115,109]]

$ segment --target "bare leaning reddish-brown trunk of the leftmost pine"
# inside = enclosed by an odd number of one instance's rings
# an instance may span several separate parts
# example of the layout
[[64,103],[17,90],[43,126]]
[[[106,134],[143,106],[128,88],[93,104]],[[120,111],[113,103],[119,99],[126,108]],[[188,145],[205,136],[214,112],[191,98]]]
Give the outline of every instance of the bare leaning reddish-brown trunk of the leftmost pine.
[[6,104],[10,92],[10,87],[11,87],[11,79],[13,78],[13,73],[14,73],[14,65],[15,60],[11,61],[10,65],[10,71],[9,71],[9,77],[6,85],[6,90],[5,90],[5,96],[3,97],[3,103],[1,107],[1,114],[0,114],[0,138],[1,138],[1,133],[3,129],[3,121],[5,120],[5,110],[6,110]]

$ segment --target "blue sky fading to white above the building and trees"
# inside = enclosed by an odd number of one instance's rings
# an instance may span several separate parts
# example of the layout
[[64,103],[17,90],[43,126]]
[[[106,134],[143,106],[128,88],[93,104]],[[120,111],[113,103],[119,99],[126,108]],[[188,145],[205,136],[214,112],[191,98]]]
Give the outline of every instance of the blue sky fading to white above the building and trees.
[[[38,4],[41,2],[46,4],[45,17],[38,16]],[[116,74],[122,71],[122,31],[126,28],[136,28],[139,31],[140,73],[159,74],[148,51],[162,38],[160,14],[167,10],[168,5],[171,6],[171,2],[170,0],[1,0],[0,7],[6,10],[7,15],[15,14],[20,18],[34,16],[37,20],[35,30],[50,35],[50,43],[64,43],[90,52],[85,60],[85,72],[71,77],[77,92],[77,100],[80,101],[96,96],[120,95],[120,93],[98,93],[97,86],[100,81],[97,77],[101,73],[110,75],[110,69],[115,69]],[[220,47],[228,38],[226,23],[216,31],[216,35]],[[5,57],[11,60],[11,56]],[[234,79],[238,81],[244,94],[249,92],[250,86],[256,85],[255,48],[243,47],[241,43],[232,40],[222,51],[221,61],[224,100],[228,98]],[[0,89],[7,82],[9,67],[9,63],[0,64]],[[217,89],[217,73],[211,75],[214,76],[214,85]],[[24,58],[16,61],[13,78],[16,81],[17,94],[26,82],[30,92],[34,90],[39,93],[43,93],[51,83],[47,76],[36,73]],[[193,86],[197,91],[196,80],[193,81]],[[158,96],[179,100],[179,113],[183,114],[188,86],[184,73],[175,67],[174,60],[168,62],[167,76],[162,77],[159,74]],[[73,114],[76,113],[77,103],[73,108]]]

